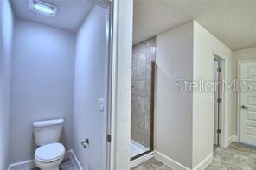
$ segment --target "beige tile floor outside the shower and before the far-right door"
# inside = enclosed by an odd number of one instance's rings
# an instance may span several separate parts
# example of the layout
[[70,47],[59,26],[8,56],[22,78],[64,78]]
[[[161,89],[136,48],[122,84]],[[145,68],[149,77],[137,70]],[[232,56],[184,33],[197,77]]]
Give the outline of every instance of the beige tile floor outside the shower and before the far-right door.
[[[132,170],[171,170],[171,168],[151,159]],[[216,148],[214,161],[206,170],[256,170],[256,148],[238,142],[231,143],[227,148]]]

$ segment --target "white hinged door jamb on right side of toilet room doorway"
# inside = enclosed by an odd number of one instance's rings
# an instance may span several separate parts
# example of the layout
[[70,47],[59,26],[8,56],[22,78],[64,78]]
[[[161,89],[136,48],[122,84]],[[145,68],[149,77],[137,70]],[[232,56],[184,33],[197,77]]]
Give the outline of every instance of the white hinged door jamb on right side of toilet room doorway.
[[114,169],[114,148],[115,148],[115,142],[112,140],[115,136],[114,134],[114,127],[115,127],[115,115],[113,114],[114,111],[114,103],[115,100],[115,73],[116,73],[116,56],[113,55],[113,2],[112,0],[95,0],[94,3],[96,5],[99,5],[105,9],[107,9],[107,17],[106,17],[106,88],[105,88],[105,117],[104,120],[106,121],[105,129],[104,129],[104,135],[106,135],[104,144],[106,146],[105,151],[105,159],[104,163],[106,165],[106,170]]

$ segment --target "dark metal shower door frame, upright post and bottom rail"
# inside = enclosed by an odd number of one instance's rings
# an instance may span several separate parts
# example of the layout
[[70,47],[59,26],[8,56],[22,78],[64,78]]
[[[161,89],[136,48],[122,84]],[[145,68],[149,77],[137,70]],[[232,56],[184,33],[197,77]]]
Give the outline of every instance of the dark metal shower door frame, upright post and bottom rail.
[[151,61],[151,100],[150,100],[150,149],[142,154],[138,154],[130,158],[130,161],[136,160],[137,158],[150,154],[154,151],[154,110],[155,110],[155,61]]

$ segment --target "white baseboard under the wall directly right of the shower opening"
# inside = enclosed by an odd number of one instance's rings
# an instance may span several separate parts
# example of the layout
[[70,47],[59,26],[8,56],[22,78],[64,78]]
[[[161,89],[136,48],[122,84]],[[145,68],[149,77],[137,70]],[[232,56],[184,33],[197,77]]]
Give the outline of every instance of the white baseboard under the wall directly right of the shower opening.
[[179,170],[190,170],[189,167],[183,166],[181,163],[172,160],[171,158],[169,158],[168,156],[166,156],[165,154],[162,154],[158,151],[154,152],[155,158],[158,161],[163,162],[163,164],[165,164],[166,166],[172,168],[172,169],[179,169]]

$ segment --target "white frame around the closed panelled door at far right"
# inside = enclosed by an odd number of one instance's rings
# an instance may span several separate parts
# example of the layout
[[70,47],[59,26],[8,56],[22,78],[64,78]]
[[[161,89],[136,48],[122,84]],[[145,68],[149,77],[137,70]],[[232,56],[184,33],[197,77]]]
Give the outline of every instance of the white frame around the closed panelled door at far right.
[[[256,60],[237,60],[237,90],[240,90],[240,65],[241,63],[248,63],[248,62],[256,62]],[[237,91],[237,98],[236,98],[236,120],[237,120],[237,141],[241,142],[240,140],[240,91]]]

